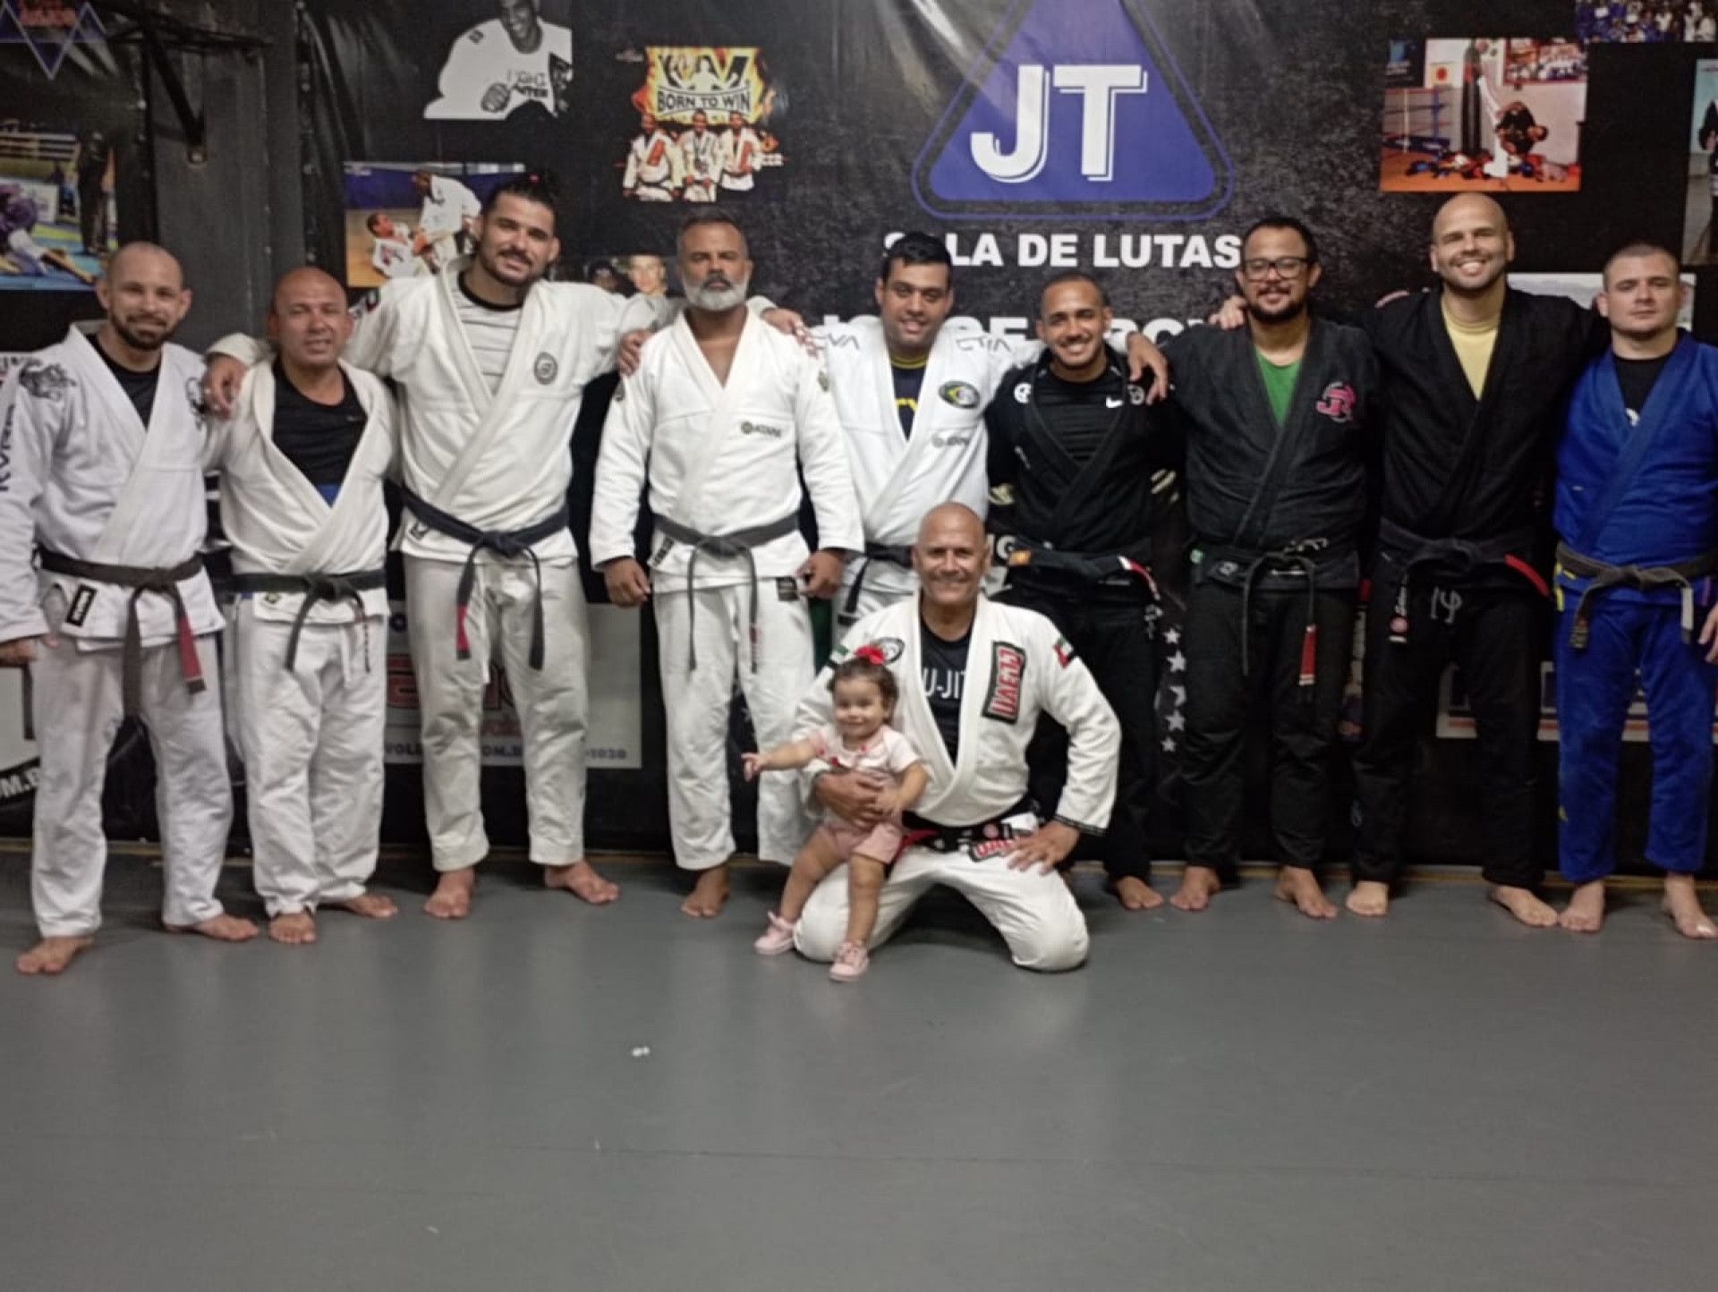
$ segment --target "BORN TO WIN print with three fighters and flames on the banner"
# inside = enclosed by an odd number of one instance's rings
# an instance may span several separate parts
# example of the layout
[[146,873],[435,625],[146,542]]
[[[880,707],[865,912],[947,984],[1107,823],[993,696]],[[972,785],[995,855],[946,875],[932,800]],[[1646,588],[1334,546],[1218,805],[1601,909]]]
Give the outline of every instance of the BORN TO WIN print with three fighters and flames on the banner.
[[632,94],[637,131],[620,167],[634,201],[713,203],[768,191],[787,163],[778,86],[751,45],[651,45]]

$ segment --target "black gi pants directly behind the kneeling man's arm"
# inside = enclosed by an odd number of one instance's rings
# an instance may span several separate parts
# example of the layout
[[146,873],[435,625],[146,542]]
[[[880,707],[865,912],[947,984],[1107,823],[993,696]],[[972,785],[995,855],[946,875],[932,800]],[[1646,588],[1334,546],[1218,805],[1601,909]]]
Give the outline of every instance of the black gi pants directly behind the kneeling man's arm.
[[[1091,670],[1103,698],[1122,723],[1122,765],[1115,783],[1110,826],[1093,840],[1112,880],[1151,876],[1146,826],[1156,794],[1153,753],[1156,751],[1158,655],[1146,612],[1151,594],[1144,588],[1012,576],[996,598],[1036,610],[1069,639],[1074,653]],[[1039,722],[1027,751],[1033,797],[1041,811],[1055,811],[1069,771],[1067,732]],[[1084,844],[1084,840],[1082,840]],[[1087,849],[1075,849],[1075,856]]]

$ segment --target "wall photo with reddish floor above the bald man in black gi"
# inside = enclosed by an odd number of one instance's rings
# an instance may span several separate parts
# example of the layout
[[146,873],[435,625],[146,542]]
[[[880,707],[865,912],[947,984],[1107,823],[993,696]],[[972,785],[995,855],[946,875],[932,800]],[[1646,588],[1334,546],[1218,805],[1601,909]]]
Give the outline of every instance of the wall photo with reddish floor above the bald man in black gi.
[[1392,41],[1378,187],[1575,192],[1586,50],[1567,40]]

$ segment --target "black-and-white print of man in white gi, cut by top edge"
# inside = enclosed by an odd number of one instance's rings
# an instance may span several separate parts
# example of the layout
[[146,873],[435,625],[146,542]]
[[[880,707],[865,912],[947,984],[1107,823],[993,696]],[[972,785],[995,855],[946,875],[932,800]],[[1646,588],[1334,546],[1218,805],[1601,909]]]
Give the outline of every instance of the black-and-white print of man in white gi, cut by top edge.
[[[507,120],[521,108],[572,107],[572,27],[543,0],[466,0],[472,26],[454,38],[424,105],[426,120]],[[438,12],[454,9],[440,5]],[[550,14],[545,14],[545,9]]]

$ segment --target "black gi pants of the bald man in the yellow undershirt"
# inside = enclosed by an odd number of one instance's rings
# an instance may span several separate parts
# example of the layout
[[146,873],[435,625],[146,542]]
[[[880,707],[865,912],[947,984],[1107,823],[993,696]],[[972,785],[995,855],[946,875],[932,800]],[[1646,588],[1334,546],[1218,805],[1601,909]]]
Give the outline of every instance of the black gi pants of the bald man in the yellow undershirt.
[[1534,740],[1539,730],[1539,658],[1546,603],[1514,588],[1438,588],[1431,577],[1409,589],[1405,643],[1390,641],[1397,567],[1380,564],[1366,617],[1362,732],[1354,756],[1359,833],[1354,878],[1402,878],[1402,832],[1419,737],[1438,704],[1438,680],[1453,660],[1474,711],[1479,814],[1491,883],[1534,888],[1543,868],[1532,854]]

